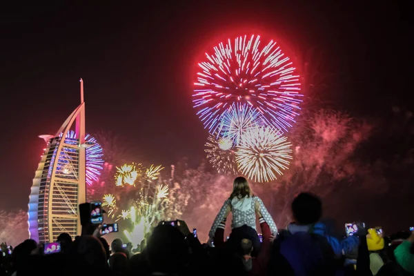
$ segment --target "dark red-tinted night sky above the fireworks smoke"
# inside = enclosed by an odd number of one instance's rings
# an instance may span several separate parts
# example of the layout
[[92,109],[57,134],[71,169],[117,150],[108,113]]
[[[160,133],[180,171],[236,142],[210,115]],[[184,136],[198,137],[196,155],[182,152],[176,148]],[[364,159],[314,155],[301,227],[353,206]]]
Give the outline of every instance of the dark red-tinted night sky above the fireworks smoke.
[[87,132],[112,132],[133,145],[132,155],[164,166],[204,157],[208,134],[191,97],[196,64],[233,34],[276,38],[297,55],[316,48],[325,72],[335,75],[323,97],[353,116],[381,117],[393,105],[412,105],[412,3],[3,6],[0,209],[27,208],[44,148],[37,136],[55,134],[79,105],[79,77]]

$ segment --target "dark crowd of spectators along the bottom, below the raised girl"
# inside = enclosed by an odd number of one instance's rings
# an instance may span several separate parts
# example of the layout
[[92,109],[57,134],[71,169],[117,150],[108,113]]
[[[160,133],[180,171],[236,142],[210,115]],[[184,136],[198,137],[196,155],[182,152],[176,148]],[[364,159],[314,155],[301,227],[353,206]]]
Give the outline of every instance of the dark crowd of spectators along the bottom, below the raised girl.
[[292,213],[295,222],[276,237],[259,218],[259,245],[248,239],[248,227],[233,229],[226,239],[225,219],[208,244],[201,244],[184,221],[161,223],[139,253],[119,239],[109,246],[99,231],[74,240],[63,233],[61,252],[49,255],[31,239],[11,254],[1,244],[0,275],[414,275],[414,233],[385,239],[360,224],[355,235],[338,239],[320,221],[321,201],[307,193],[294,199]]

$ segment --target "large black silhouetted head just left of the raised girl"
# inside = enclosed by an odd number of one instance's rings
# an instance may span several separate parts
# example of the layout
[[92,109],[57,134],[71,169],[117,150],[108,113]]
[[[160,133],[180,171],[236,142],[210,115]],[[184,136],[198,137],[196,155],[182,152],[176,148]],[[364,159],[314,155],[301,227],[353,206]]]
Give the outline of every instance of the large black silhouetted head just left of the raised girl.
[[146,254],[152,270],[160,273],[181,272],[189,255],[184,235],[170,225],[154,228],[146,244]]

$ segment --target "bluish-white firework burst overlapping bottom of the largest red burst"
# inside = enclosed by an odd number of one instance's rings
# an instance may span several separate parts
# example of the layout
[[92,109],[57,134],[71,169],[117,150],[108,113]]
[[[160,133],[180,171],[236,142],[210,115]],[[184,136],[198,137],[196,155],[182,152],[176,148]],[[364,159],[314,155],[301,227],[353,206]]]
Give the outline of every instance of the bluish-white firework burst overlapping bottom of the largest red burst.
[[[224,111],[218,132],[224,137],[221,141],[230,140],[232,141],[231,146],[237,146],[246,130],[264,125],[264,117],[256,108],[252,108],[247,103],[243,105],[233,103],[230,108]],[[221,149],[228,150],[229,148]]]

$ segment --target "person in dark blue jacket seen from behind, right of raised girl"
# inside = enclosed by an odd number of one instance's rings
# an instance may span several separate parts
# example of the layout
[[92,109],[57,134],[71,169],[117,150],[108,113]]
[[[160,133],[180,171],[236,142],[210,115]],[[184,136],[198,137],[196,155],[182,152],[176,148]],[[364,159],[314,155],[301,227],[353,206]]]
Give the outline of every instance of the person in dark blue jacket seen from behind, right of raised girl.
[[273,275],[334,275],[333,249],[325,237],[311,233],[322,215],[322,202],[308,193],[292,202],[296,221],[281,231],[273,244],[270,273]]

